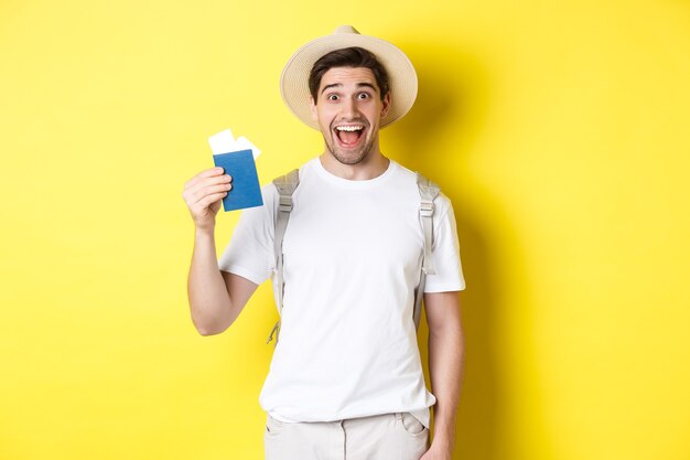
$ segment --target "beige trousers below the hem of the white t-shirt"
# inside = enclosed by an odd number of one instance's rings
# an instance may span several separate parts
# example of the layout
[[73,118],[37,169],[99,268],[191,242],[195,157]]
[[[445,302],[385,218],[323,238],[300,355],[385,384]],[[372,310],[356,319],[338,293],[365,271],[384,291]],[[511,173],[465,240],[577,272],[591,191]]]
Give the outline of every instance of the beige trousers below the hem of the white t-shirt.
[[429,429],[409,413],[285,424],[268,416],[266,460],[419,460]]

